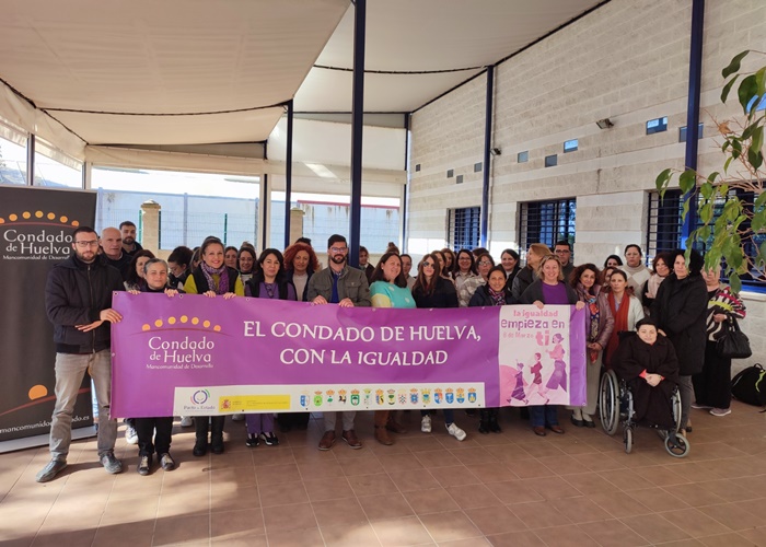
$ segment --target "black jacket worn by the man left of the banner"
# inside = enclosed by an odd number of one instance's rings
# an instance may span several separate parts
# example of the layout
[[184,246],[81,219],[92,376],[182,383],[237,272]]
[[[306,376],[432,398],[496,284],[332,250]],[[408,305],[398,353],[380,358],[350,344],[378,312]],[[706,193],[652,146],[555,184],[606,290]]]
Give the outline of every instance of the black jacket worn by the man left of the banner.
[[54,341],[59,353],[90,353],[111,345],[111,323],[82,333],[76,325],[98,321],[101,312],[112,307],[112,292],[123,291],[117,268],[96,258],[85,264],[72,255],[57,264],[45,284],[45,309],[54,324]]

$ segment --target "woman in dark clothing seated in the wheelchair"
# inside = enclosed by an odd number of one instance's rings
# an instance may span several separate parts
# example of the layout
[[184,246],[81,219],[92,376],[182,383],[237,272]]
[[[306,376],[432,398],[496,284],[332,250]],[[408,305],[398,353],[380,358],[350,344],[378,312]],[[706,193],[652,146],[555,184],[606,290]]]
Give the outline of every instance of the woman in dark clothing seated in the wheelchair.
[[635,422],[655,426],[675,438],[671,396],[678,382],[678,359],[673,345],[658,336],[657,324],[645,318],[636,324],[617,349],[612,368],[625,380],[634,398]]

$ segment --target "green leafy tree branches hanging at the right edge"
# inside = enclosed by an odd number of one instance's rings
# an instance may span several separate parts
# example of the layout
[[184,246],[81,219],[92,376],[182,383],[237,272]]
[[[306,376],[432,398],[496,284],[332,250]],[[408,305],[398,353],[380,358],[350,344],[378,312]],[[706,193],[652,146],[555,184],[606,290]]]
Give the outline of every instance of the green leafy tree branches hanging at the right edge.
[[724,274],[732,289],[742,288],[741,276],[765,279],[766,272],[766,194],[764,193],[764,123],[766,109],[757,109],[766,101],[766,67],[754,72],[742,71],[745,50],[734,56],[721,71],[726,80],[721,102],[729,100],[736,88],[742,116],[716,120],[723,162],[721,171],[703,174],[686,168],[666,168],[657,177],[657,189],[665,190],[677,178],[684,193],[684,219],[690,200],[697,201],[699,222],[686,240],[686,247],[705,246],[705,265],[723,261]]

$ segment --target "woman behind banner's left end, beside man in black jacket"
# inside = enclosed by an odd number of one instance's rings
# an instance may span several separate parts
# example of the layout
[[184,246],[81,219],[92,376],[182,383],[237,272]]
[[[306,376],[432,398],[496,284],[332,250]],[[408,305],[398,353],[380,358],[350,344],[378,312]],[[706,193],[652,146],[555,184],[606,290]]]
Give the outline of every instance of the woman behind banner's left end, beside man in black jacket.
[[[143,253],[143,251],[139,251]],[[167,287],[167,263],[161,258],[150,258],[143,266],[143,279],[146,287],[142,290],[130,289],[130,294],[140,292],[164,292],[173,298],[178,291]],[[173,417],[134,418],[136,432],[138,433],[138,474],[149,475],[152,467],[152,456],[158,454],[160,466],[171,472],[175,469],[175,462],[171,456],[171,439],[173,433]],[[153,442],[152,442],[152,437]]]

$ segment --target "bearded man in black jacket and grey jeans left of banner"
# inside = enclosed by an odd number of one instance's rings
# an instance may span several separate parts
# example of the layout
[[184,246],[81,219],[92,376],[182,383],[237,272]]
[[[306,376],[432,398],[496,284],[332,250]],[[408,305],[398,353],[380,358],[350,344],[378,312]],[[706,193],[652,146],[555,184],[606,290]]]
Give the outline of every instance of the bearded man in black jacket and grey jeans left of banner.
[[50,423],[51,459],[38,474],[47,482],[67,466],[72,414],[85,371],[98,400],[98,459],[108,473],[119,473],[115,458],[117,421],[109,418],[112,359],[109,323],[123,317],[112,309],[112,292],[123,290],[119,271],[97,257],[98,235],[91,228],[72,234],[74,256],[57,264],[45,286],[45,307],[56,344],[56,406]]

